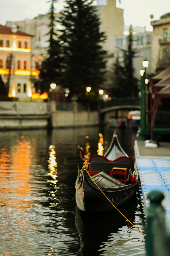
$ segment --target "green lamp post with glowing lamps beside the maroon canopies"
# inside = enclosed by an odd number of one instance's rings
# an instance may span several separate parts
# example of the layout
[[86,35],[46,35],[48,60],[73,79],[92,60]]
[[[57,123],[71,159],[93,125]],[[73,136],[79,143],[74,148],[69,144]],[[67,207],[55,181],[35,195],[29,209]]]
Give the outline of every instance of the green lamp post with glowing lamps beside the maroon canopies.
[[147,59],[142,61],[143,69],[140,70],[141,75],[141,120],[140,120],[140,128],[141,128],[141,140],[144,140],[144,133],[146,131],[146,83],[148,79],[146,79],[146,69],[149,65],[149,61]]

